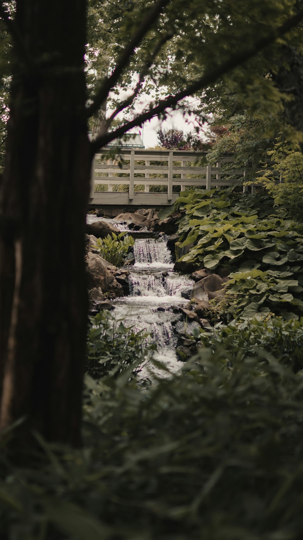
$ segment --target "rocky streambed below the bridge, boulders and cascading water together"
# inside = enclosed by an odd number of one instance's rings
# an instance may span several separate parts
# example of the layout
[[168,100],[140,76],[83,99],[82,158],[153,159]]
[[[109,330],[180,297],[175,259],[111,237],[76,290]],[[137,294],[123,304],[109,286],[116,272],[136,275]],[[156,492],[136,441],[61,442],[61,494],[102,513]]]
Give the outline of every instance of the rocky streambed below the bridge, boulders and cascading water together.
[[[115,309],[130,326],[152,332],[159,360],[170,369],[201,346],[199,328],[210,327],[209,300],[222,298],[226,275],[176,262],[176,221],[180,214],[159,219],[153,209],[124,213],[113,219],[89,215],[86,262],[92,312]],[[98,238],[129,231],[135,245],[117,268],[100,257]],[[135,312],[135,313],[134,313]],[[172,361],[170,360],[172,359]]]

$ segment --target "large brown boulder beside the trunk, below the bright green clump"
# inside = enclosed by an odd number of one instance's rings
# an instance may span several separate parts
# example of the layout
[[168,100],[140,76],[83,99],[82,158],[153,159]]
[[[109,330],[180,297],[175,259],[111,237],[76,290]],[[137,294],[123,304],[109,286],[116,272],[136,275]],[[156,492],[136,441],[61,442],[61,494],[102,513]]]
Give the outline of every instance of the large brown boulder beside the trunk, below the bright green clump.
[[[122,286],[107,269],[105,263],[109,264],[97,253],[88,253],[87,274],[89,289],[101,287],[103,293],[115,293],[116,296],[123,296]],[[116,269],[115,266],[111,266]]]

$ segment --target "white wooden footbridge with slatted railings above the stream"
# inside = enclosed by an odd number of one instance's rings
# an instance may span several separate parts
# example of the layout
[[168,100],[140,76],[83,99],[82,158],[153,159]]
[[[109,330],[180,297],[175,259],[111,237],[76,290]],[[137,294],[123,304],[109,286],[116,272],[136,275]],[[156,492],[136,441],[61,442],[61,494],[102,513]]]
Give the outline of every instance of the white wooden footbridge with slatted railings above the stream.
[[[199,166],[196,163],[206,152],[121,149],[116,161],[102,160],[106,153],[108,150],[101,149],[92,164],[89,204],[93,206],[169,206],[178,197],[173,186],[180,188],[178,192],[188,186],[210,189],[234,184],[235,177],[243,184],[247,174],[247,170],[230,167],[234,160],[232,154],[222,156],[215,166]],[[106,191],[99,191],[99,185]],[[114,191],[114,186],[118,185],[127,186],[127,191]],[[250,185],[252,193],[256,185]],[[141,186],[140,191],[135,191],[135,186]],[[165,192],[154,192],[150,191],[150,186],[165,186],[166,189]],[[243,191],[248,191],[248,186],[243,186]]]

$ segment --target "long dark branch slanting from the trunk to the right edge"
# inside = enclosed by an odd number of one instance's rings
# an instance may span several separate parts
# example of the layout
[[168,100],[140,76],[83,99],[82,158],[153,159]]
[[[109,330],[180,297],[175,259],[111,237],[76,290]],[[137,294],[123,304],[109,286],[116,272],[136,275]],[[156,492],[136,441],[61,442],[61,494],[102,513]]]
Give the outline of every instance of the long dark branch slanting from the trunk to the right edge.
[[237,52],[235,55],[232,55],[229,60],[223,62],[222,64],[217,65],[209,73],[205,73],[201,78],[197,79],[194,83],[189,84],[184,90],[177,92],[174,96],[168,96],[167,98],[161,100],[159,104],[154,106],[148,111],[142,112],[136,116],[130,122],[127,122],[121,127],[118,127],[112,133],[106,133],[97,137],[91,143],[92,153],[94,155],[102,146],[110,143],[113,139],[122,137],[127,131],[132,129],[132,127],[140,126],[147,120],[152,119],[154,116],[158,116],[163,113],[166,109],[173,107],[180,100],[185,97],[191,96],[194,93],[198,92],[210,84],[214,84],[216,80],[221,78],[223,75],[226,75],[229,71],[237,68],[239,65],[242,65],[247,60],[250,60],[252,57],[256,56],[261,50],[265,49],[268,45],[271,45],[277,38],[283,36],[285,33],[290,31],[296,24],[298,24],[303,19],[303,9],[300,9],[296,15],[289,18],[284,24],[278,26],[268,36],[257,39],[254,45],[250,49],[244,49]]

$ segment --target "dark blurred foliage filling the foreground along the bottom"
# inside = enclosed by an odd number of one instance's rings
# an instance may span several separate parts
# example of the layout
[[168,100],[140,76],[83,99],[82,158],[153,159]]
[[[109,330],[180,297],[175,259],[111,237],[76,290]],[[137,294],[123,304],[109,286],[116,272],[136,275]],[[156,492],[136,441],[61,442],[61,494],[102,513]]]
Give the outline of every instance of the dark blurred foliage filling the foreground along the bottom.
[[301,374],[222,349],[184,369],[144,392],[86,377],[82,448],[0,462],[3,538],[301,538]]

